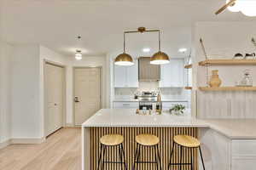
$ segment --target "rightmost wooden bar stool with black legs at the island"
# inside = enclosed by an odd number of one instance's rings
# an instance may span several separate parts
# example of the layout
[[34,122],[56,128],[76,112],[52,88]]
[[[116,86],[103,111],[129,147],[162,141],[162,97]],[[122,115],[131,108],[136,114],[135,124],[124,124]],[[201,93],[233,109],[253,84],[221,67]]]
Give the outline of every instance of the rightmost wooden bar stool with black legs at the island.
[[[173,154],[173,150],[174,150],[174,144],[177,144],[178,146],[180,146],[180,161],[179,163],[172,163],[172,154]],[[193,170],[193,154],[192,151],[194,149],[199,148],[200,150],[200,156],[201,156],[201,162],[202,162],[202,166],[203,169],[205,170],[205,164],[204,164],[204,160],[201,154],[201,146],[200,146],[200,142],[198,139],[195,139],[192,136],[187,136],[187,135],[177,135],[173,138],[173,144],[172,144],[172,154],[171,154],[171,159],[170,159],[170,163],[168,164],[168,170],[172,165],[179,165],[179,170],[182,169],[183,165],[190,165],[190,169]],[[183,159],[183,147],[184,148],[189,148],[190,150],[190,162],[185,162],[182,163],[182,159]]]

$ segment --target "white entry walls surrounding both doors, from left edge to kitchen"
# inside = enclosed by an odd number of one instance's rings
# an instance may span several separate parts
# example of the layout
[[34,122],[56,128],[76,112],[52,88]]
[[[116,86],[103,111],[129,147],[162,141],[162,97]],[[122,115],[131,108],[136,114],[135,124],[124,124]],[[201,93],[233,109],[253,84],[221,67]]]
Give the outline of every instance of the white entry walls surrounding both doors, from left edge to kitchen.
[[108,107],[105,56],[77,61],[39,45],[0,42],[0,144],[9,139],[44,137],[44,60],[67,73],[67,124],[73,125],[73,67],[102,67],[102,107]]

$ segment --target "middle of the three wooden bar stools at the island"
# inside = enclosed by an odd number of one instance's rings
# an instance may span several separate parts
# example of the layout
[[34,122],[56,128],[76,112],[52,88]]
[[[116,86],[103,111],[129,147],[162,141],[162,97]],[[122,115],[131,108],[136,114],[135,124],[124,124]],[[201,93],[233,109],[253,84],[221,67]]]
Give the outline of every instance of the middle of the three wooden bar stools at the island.
[[[156,168],[159,169],[160,167],[160,170],[161,170],[162,167],[160,162],[160,150],[159,150],[160,139],[157,136],[154,136],[153,134],[140,134],[140,135],[137,135],[136,142],[137,142],[137,149],[134,156],[134,163],[133,163],[132,170],[135,170],[136,165],[138,168],[139,163],[155,164]],[[140,161],[141,148],[143,147],[154,147],[155,161]]]

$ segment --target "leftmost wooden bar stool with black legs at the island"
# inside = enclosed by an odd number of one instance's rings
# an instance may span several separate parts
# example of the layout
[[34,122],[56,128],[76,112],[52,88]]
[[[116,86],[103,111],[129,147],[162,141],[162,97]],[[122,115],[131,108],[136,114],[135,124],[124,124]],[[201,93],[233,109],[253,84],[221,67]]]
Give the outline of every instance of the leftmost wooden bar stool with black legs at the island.
[[[125,163],[125,150],[124,150],[124,146],[123,146],[124,137],[119,134],[108,134],[108,135],[103,136],[100,139],[100,142],[101,142],[101,153],[100,153],[99,160],[98,160],[97,170],[99,170],[100,167],[103,170],[105,163],[108,163],[108,164],[115,163],[117,165],[121,164],[122,169],[125,166],[125,170],[127,170],[127,165]],[[119,161],[105,160],[107,147],[117,147],[118,148]]]

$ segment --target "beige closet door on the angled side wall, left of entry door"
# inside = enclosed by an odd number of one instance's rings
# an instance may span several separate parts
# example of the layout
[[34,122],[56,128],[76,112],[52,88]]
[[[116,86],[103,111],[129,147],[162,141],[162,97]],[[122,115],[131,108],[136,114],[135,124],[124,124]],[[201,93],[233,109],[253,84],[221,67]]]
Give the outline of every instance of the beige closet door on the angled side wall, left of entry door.
[[46,136],[54,133],[63,126],[63,101],[64,101],[64,69],[60,66],[45,65],[45,90],[46,90]]

